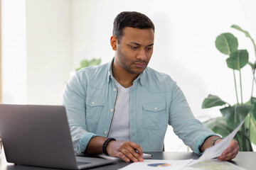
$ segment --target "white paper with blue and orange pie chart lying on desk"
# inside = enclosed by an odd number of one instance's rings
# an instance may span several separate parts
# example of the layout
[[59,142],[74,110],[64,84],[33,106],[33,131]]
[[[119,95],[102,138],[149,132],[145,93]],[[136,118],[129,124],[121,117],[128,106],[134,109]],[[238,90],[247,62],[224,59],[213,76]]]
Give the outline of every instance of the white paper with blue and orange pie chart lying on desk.
[[151,170],[151,169],[183,169],[192,159],[186,160],[148,160],[145,159],[144,162],[134,162],[127,166],[124,166],[122,170],[134,170],[134,169],[143,169],[143,170]]

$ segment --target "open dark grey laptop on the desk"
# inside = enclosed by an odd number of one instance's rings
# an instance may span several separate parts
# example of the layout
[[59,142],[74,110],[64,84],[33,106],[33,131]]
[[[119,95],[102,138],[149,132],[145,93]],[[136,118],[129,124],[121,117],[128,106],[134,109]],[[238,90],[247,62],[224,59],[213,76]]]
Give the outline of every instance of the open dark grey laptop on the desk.
[[6,161],[58,169],[87,169],[116,162],[75,157],[64,106],[0,104]]

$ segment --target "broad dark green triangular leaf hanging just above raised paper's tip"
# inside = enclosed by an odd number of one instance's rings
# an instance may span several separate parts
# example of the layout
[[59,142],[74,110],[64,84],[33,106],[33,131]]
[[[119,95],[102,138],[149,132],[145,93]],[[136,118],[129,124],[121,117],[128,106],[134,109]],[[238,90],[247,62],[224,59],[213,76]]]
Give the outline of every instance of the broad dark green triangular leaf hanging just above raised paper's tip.
[[245,120],[251,108],[252,105],[230,106],[220,109],[220,112],[230,128],[234,130],[243,120]]

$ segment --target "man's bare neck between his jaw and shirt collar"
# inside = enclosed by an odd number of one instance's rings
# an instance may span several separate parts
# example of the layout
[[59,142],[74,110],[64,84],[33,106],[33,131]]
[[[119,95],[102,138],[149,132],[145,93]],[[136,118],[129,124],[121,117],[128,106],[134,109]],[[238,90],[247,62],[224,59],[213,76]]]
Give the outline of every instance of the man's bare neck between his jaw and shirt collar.
[[112,64],[112,74],[114,79],[116,79],[117,82],[121,84],[124,88],[132,86],[133,81],[139,76],[139,74],[129,73],[122,67],[120,67],[119,64],[114,64],[114,62]]

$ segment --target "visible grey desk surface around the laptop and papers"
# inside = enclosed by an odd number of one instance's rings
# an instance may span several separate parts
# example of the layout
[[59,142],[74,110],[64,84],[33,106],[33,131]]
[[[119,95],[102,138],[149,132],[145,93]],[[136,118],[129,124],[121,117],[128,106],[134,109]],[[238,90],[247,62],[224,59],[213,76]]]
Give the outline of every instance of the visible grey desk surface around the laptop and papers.
[[[147,152],[149,154],[153,154],[152,159],[198,159],[198,155],[193,152]],[[256,167],[256,152],[239,152],[237,157],[233,159],[232,163],[241,166],[244,169],[252,170]],[[93,170],[114,170],[120,169],[124,166],[127,166],[129,163],[126,162],[117,162],[114,164],[109,164],[105,166],[99,166],[92,168]],[[6,162],[4,153],[0,154],[0,169],[1,170],[49,170],[46,168],[39,168],[34,166],[21,166],[9,164]]]

